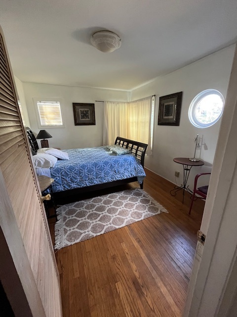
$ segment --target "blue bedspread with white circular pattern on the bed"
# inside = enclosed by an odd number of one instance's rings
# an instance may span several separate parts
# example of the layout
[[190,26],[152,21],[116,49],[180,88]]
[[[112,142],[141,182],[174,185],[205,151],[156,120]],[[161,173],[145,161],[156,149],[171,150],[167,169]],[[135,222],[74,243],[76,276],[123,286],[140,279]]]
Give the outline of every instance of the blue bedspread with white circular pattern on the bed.
[[133,154],[115,155],[105,147],[64,150],[69,160],[58,160],[50,168],[54,179],[52,191],[108,183],[138,176],[141,183],[146,176],[140,161]]

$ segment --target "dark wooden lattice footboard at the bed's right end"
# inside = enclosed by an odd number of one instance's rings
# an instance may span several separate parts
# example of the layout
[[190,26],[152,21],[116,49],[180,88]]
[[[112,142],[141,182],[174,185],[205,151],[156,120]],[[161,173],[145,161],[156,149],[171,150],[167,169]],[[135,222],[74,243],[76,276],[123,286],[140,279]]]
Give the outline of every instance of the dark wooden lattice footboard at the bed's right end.
[[115,144],[118,144],[120,147],[130,149],[131,152],[137,157],[137,159],[140,160],[142,166],[144,167],[144,158],[148,144],[124,139],[121,137],[116,138]]

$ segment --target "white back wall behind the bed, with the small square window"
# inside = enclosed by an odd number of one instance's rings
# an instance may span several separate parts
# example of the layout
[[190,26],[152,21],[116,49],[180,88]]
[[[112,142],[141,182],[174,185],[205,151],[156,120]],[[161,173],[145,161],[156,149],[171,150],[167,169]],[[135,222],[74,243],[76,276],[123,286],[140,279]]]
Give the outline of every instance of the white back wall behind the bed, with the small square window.
[[[35,134],[40,129],[37,124],[33,98],[62,99],[65,128],[47,128],[52,135],[48,139],[50,147],[61,149],[85,148],[103,145],[104,103],[98,101],[128,101],[130,93],[109,89],[79,88],[47,84],[23,83],[26,104],[30,116],[30,127]],[[95,104],[95,125],[75,126],[73,103]],[[41,146],[40,146],[41,147]]]

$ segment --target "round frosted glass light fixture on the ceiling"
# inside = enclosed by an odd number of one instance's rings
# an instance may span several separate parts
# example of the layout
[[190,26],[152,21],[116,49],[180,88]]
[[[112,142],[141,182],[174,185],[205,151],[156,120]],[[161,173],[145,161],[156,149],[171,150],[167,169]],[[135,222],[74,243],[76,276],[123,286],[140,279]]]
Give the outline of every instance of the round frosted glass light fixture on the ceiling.
[[119,49],[121,39],[111,31],[99,31],[91,35],[91,44],[103,53],[111,53]]

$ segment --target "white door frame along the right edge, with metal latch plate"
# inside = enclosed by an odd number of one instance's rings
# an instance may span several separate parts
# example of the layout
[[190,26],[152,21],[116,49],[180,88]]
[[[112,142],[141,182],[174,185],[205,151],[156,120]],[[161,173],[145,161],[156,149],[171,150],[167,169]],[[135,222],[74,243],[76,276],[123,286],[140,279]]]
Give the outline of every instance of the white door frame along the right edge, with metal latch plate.
[[200,228],[206,240],[204,247],[197,243],[184,317],[217,317],[221,310],[225,317],[233,305],[237,292],[231,281],[237,264],[236,193],[237,48]]

